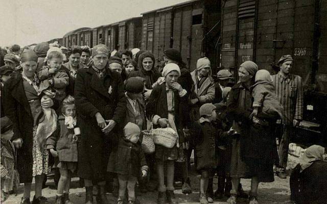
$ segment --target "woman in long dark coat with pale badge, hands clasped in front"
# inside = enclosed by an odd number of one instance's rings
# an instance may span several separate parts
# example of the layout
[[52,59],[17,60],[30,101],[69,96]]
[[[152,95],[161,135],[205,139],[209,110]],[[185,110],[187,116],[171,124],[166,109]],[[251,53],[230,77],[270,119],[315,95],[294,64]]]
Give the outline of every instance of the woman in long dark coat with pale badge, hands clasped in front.
[[105,175],[110,151],[110,138],[121,131],[126,100],[120,73],[108,68],[108,48],[96,45],[93,62],[79,69],[75,83],[77,125],[81,129],[78,146],[78,175],[84,179],[85,202],[93,203],[92,183],[99,185],[97,203],[108,203]]

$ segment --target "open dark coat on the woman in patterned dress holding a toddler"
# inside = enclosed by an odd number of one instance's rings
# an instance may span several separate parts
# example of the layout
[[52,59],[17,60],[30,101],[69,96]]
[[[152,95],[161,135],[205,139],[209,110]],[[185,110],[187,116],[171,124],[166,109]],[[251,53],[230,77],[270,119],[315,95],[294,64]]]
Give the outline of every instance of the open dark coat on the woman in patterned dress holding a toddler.
[[[54,109],[58,104],[54,101]],[[12,140],[22,138],[22,147],[17,150],[17,170],[20,183],[32,182],[33,168],[33,116],[25,95],[20,72],[13,74],[4,86],[4,108],[6,115],[13,121]]]

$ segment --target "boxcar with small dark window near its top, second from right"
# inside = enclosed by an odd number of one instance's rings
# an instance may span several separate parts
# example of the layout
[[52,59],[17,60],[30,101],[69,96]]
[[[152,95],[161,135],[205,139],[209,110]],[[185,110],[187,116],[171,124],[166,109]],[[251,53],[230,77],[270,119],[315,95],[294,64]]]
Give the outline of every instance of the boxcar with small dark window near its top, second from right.
[[219,64],[220,2],[193,0],[145,12],[142,49],[162,58],[176,48],[192,71],[200,57],[208,57],[215,72]]

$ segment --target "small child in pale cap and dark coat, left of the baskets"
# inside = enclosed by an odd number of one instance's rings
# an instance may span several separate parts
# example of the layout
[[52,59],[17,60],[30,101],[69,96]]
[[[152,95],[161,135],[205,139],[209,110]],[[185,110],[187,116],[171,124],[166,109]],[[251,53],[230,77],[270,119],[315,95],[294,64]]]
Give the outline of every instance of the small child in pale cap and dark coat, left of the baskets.
[[118,174],[119,197],[117,204],[123,204],[126,188],[128,189],[128,203],[135,203],[135,184],[139,170],[146,177],[148,166],[144,152],[139,142],[141,130],[138,125],[128,122],[124,127],[124,136],[120,139],[118,148],[111,152],[108,171]]

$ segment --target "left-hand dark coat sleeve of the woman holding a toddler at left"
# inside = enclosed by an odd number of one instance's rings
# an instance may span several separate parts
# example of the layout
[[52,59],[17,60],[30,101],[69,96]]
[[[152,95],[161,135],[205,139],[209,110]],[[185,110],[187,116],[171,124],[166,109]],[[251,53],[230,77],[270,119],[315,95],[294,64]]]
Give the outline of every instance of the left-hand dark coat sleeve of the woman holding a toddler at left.
[[25,140],[24,135],[21,134],[20,132],[20,127],[19,127],[19,120],[18,120],[18,103],[14,99],[14,97],[11,95],[11,89],[10,89],[10,84],[5,83],[4,86],[4,110],[5,110],[5,115],[10,118],[10,120],[13,122],[13,132],[14,135],[11,140],[15,140],[18,138]]

